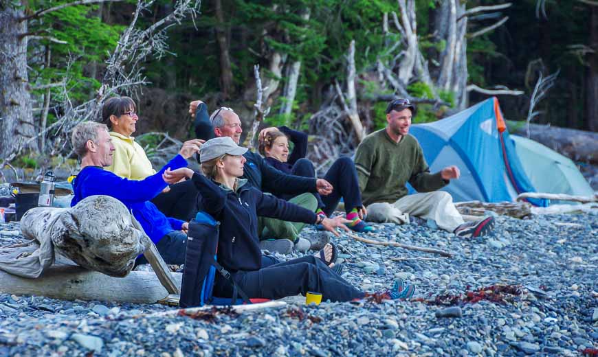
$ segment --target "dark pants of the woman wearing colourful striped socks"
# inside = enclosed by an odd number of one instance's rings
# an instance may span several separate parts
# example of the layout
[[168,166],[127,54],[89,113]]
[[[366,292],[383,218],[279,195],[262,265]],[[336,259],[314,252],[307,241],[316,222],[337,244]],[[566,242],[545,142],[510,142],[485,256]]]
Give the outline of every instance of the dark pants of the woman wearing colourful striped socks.
[[[293,165],[291,173],[297,176],[315,177],[313,163],[308,159],[299,159]],[[331,183],[334,189],[328,196],[315,194],[315,198],[318,198],[318,207],[324,211],[326,216],[333,214],[341,197],[344,200],[346,212],[351,211],[355,207],[362,207],[362,194],[359,191],[357,171],[355,171],[355,163],[353,163],[351,158],[340,157],[337,159],[324,175],[324,180]],[[285,200],[289,199],[287,196],[284,198]]]

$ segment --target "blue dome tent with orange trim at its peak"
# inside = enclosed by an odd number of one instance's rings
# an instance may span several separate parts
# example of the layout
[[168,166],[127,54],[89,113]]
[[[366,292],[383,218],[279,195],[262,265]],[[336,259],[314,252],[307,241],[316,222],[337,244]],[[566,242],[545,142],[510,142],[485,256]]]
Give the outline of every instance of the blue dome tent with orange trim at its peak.
[[[412,126],[431,172],[456,165],[461,178],[443,188],[454,201],[513,201],[536,192],[509,137],[498,100],[491,97],[437,122]],[[529,200],[546,206],[547,200]]]

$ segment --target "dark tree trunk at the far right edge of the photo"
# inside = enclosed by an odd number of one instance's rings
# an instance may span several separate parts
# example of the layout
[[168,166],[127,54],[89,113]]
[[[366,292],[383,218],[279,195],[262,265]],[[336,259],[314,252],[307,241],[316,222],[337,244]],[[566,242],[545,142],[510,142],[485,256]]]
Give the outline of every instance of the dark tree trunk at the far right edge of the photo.
[[586,123],[589,130],[598,131],[598,6],[590,8],[590,47],[595,53],[588,58]]

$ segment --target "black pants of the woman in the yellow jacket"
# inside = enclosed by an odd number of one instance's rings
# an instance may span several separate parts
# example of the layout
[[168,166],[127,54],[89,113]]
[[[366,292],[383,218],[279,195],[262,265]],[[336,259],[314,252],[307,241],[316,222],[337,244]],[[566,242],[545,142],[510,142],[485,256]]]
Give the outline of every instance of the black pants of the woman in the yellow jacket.
[[170,191],[151,200],[166,217],[190,221],[197,214],[197,195],[193,181],[187,180],[170,185]]

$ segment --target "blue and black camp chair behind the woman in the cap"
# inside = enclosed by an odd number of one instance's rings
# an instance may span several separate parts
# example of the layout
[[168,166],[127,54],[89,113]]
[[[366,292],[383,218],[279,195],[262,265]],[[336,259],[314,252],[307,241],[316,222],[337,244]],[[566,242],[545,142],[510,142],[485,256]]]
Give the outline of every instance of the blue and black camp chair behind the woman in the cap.
[[[230,273],[217,262],[220,222],[210,214],[199,212],[189,222],[187,250],[181,283],[179,306],[190,308],[206,304],[230,306],[242,303],[261,303],[269,299],[250,299]],[[214,297],[214,279],[221,274],[233,287],[232,298]],[[240,296],[241,298],[237,298]]]

